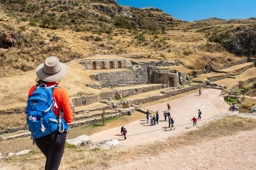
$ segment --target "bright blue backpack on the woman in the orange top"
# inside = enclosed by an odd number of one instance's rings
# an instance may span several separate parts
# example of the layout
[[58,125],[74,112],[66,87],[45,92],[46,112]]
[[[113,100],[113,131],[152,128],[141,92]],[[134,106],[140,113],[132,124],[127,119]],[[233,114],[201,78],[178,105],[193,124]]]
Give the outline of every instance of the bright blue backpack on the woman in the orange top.
[[[45,87],[42,87],[45,86]],[[27,113],[27,123],[31,135],[39,138],[58,130],[61,133],[68,131],[68,125],[62,118],[63,111],[60,109],[60,117],[53,113],[53,107],[57,107],[55,99],[52,97],[56,85],[47,87],[45,84],[36,86],[36,90],[28,97],[27,107],[24,113]]]

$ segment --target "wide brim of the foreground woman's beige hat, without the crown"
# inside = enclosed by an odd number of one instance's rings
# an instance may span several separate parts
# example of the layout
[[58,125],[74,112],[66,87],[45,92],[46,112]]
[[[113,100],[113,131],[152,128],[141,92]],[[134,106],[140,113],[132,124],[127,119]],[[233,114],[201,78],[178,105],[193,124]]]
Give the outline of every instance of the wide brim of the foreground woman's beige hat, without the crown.
[[57,74],[49,75],[43,71],[44,63],[42,63],[36,68],[36,75],[38,78],[46,82],[58,81],[63,77],[65,77],[65,75],[68,73],[68,66],[66,64],[60,63],[60,66],[61,66],[61,69]]

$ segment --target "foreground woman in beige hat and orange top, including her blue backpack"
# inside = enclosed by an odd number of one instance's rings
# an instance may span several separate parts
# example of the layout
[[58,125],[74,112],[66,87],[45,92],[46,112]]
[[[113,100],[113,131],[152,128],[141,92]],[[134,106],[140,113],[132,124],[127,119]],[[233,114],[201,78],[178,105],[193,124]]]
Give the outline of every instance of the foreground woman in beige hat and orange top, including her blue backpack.
[[56,81],[68,72],[57,57],[45,59],[36,69],[37,84],[28,93],[27,124],[37,147],[46,157],[45,170],[59,168],[68,125],[73,121],[69,96]]

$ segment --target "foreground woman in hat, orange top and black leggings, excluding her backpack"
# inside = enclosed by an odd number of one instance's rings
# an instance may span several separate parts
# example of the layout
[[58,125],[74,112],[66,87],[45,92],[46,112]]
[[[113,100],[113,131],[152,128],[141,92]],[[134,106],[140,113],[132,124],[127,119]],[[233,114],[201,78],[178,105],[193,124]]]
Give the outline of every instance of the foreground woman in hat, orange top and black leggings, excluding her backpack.
[[[68,72],[68,66],[59,62],[57,57],[51,56],[45,59],[44,63],[36,68],[36,83],[30,88],[28,96],[30,96],[36,89],[36,86],[46,84],[47,87],[56,85],[56,81],[65,77]],[[60,109],[63,110],[63,119],[66,123],[73,121],[73,114],[70,107],[69,96],[65,89],[56,88],[53,91],[52,97],[56,105],[53,106],[53,113],[59,117]],[[45,169],[58,169],[60,166],[61,158],[64,152],[67,132],[55,131],[49,135],[39,138],[34,138],[37,147],[42,151],[46,157]]]

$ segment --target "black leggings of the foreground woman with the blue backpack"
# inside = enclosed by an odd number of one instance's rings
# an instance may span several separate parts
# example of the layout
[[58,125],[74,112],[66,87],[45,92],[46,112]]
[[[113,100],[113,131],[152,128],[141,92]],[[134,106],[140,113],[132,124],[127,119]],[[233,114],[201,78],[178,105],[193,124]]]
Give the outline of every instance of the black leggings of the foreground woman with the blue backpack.
[[36,146],[46,157],[45,170],[58,170],[64,152],[67,133],[55,131],[49,135],[34,138]]

